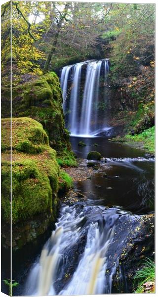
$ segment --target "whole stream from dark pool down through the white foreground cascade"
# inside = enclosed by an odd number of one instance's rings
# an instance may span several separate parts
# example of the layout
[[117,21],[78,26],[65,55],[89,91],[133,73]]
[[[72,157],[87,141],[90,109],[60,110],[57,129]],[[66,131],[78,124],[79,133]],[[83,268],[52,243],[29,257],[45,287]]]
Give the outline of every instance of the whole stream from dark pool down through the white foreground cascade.
[[[81,140],[85,147],[78,146]],[[105,138],[71,137],[71,143],[83,168],[87,152],[99,151],[99,170],[75,183],[74,191],[86,199],[61,202],[51,236],[32,257],[29,269],[23,263],[13,274],[20,282],[16,295],[131,293],[120,256],[140,229],[143,215],[154,211],[154,158]]]

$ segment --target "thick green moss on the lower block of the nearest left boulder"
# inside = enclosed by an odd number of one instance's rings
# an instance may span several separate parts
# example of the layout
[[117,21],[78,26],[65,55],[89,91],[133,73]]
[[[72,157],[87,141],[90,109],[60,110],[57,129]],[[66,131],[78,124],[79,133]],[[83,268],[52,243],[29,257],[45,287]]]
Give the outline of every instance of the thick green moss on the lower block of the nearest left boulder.
[[[12,223],[29,219],[40,213],[52,213],[58,192],[59,166],[56,160],[31,159],[26,155],[18,155],[20,161],[12,162]],[[5,174],[10,166],[2,169],[3,190],[9,185]],[[3,219],[9,222],[9,193],[2,191]]]

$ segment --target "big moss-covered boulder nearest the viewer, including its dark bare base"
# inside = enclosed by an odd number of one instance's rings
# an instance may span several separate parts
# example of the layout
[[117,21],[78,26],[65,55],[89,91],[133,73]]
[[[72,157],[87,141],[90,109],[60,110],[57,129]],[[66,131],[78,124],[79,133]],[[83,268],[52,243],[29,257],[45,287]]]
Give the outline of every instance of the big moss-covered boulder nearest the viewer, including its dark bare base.
[[[2,119],[2,245],[10,228],[10,119]],[[60,168],[42,125],[12,118],[12,247],[18,249],[44,233],[56,219]]]

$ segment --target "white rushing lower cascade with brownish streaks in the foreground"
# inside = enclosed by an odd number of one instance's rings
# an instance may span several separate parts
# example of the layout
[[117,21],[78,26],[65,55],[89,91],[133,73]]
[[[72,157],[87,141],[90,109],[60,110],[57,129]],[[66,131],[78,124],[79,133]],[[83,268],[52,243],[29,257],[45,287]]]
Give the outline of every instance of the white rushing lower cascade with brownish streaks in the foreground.
[[[55,230],[31,268],[23,295],[111,293],[118,268],[120,280],[123,278],[118,258],[129,232],[128,224],[134,226],[136,217],[127,212],[121,214],[119,207],[83,202],[63,205]],[[124,225],[119,245],[118,225]]]

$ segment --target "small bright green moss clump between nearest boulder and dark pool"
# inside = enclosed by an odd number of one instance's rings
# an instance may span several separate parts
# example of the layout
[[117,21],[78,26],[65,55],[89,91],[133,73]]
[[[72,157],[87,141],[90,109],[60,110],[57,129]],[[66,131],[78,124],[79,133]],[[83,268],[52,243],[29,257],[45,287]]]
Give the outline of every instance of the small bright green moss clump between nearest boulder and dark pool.
[[68,173],[64,170],[60,171],[59,174],[59,195],[67,192],[73,186],[73,180]]

